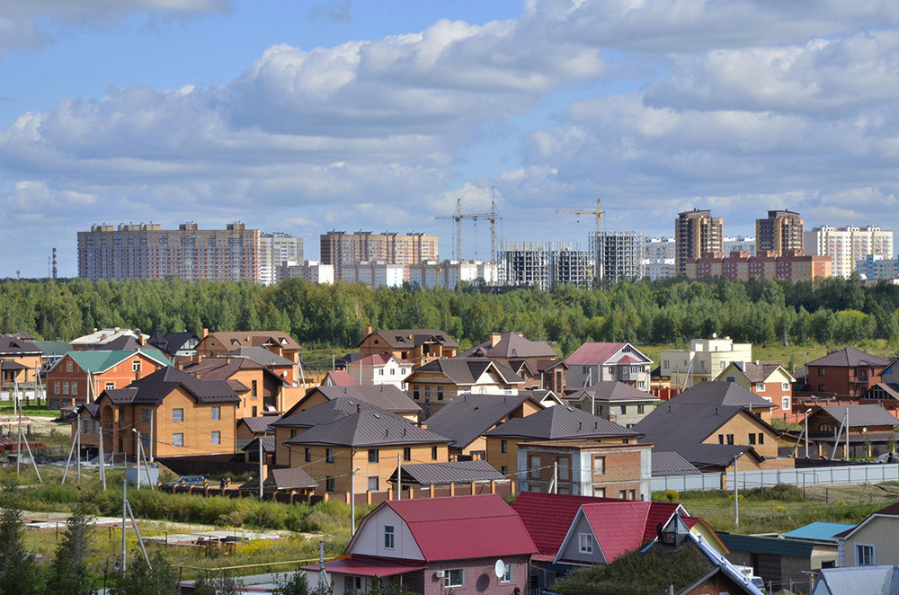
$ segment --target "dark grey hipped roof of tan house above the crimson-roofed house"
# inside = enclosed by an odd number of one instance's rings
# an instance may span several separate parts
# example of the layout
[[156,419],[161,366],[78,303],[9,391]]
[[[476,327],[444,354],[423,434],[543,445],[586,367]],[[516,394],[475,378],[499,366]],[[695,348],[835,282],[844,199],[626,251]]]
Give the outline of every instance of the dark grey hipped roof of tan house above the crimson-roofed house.
[[284,443],[365,448],[449,442],[449,439],[413,425],[399,415],[375,409],[361,409],[335,422],[317,425]]

